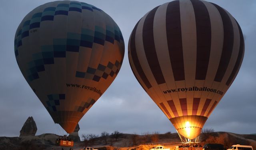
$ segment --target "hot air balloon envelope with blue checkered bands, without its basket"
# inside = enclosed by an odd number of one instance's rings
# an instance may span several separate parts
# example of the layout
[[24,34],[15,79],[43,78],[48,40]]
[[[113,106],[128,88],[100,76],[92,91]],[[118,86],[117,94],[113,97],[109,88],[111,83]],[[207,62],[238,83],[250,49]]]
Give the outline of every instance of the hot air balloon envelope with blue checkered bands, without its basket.
[[68,0],[29,12],[14,48],[24,78],[68,133],[116,78],[124,58],[114,20],[95,6]]

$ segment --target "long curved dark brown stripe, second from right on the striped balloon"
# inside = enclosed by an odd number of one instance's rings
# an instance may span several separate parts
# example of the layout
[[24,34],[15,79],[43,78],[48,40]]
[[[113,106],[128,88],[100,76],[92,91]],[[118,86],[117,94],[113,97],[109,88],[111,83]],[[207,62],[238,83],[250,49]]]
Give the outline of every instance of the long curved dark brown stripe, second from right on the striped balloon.
[[228,64],[232,54],[233,43],[234,43],[234,30],[233,30],[232,22],[228,14],[226,13],[226,11],[216,4],[213,4],[213,5],[218,9],[220,13],[220,16],[222,18],[222,23],[223,23],[223,30],[224,30],[224,40],[223,40],[222,54],[220,57],[220,64],[218,66],[218,70],[214,78],[214,81],[221,82],[226,72],[226,69],[228,68]]

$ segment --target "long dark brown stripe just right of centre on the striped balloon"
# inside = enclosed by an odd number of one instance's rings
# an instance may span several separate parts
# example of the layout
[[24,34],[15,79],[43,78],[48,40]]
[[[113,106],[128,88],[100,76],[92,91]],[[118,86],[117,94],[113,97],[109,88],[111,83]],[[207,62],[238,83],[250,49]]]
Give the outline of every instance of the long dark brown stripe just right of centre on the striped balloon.
[[205,80],[211,51],[211,21],[202,1],[190,1],[196,18],[196,80]]

